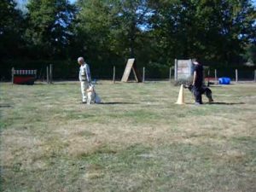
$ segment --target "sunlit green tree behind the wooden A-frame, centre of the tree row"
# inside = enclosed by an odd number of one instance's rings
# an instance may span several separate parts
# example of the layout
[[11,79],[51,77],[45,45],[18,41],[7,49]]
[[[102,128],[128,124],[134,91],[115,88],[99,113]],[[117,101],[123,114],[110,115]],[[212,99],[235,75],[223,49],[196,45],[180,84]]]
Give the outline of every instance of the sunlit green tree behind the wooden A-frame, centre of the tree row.
[[76,27],[80,50],[98,62],[124,63],[129,57],[138,58],[143,49],[143,27],[150,17],[148,2],[80,0]]

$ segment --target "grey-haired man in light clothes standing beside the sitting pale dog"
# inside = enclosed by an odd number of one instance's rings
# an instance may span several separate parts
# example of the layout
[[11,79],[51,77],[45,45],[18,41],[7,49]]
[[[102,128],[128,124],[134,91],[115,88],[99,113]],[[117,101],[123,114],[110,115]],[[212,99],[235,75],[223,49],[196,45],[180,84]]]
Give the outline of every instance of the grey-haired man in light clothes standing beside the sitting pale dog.
[[78,62],[80,65],[79,81],[81,82],[82,102],[86,103],[87,102],[86,90],[88,89],[91,81],[90,67],[86,62],[84,62],[83,57],[79,57]]

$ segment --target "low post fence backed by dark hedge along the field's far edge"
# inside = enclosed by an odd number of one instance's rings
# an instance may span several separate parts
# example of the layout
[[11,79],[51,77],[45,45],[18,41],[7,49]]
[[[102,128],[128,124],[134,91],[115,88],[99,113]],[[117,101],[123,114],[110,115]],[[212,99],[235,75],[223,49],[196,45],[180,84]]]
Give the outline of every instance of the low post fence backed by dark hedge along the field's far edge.
[[[47,80],[47,67],[52,65],[53,80],[78,80],[79,65],[76,61],[9,61],[0,66],[0,80],[10,81],[12,77],[11,69],[19,70],[37,70],[37,79]],[[89,63],[90,64],[90,63]],[[114,68],[114,70],[113,70]],[[90,71],[93,79],[108,79],[119,81],[122,79],[125,71],[125,63],[109,65],[109,63],[90,64]],[[137,71],[143,78],[143,81],[150,80],[170,80],[174,79],[174,67],[166,65],[137,65]],[[215,74],[216,73],[216,74]],[[255,81],[256,66],[210,66],[205,67],[205,77],[221,78],[228,77],[232,81]],[[129,80],[134,80],[133,73],[130,74]]]

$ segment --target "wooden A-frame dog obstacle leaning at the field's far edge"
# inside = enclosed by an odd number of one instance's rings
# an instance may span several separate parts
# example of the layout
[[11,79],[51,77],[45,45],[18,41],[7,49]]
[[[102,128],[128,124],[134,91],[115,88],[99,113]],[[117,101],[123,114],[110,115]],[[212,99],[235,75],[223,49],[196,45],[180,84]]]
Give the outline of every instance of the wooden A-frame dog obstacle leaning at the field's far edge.
[[137,67],[136,67],[134,58],[131,58],[127,61],[126,67],[125,67],[125,72],[123,74],[123,77],[122,77],[121,81],[122,82],[127,82],[128,81],[130,73],[131,73],[131,69],[132,69],[132,72],[134,74],[134,77],[135,77],[137,83],[142,82],[142,78],[139,75],[139,73],[137,72]]

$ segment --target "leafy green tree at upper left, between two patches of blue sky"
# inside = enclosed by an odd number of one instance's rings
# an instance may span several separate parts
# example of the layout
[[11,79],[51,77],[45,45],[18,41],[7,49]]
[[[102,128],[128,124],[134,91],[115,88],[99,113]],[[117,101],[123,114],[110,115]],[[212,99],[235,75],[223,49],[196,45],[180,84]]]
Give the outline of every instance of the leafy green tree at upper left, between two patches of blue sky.
[[67,56],[66,50],[73,36],[71,23],[75,7],[67,0],[31,0],[27,9],[26,41],[32,55]]

